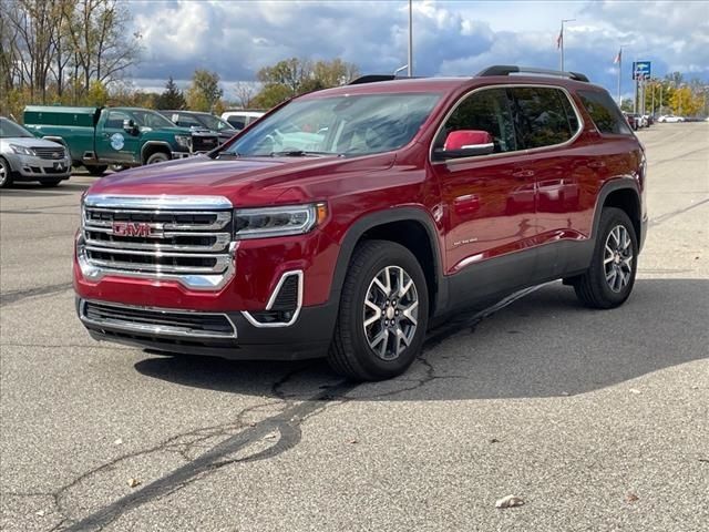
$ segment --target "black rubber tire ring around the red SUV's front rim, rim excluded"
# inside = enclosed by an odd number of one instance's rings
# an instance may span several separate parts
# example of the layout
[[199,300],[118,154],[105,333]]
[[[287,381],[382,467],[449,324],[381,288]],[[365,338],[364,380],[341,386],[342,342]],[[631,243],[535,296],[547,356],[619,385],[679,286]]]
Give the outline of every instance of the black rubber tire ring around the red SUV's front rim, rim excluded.
[[[340,327],[347,327],[348,329],[353,355],[370,380],[388,379],[405,371],[421,352],[428,325],[428,287],[419,262],[409,249],[399,244],[389,242],[381,244],[383,245],[380,245],[377,253],[369,257],[364,267],[358,273],[359,278],[346,282],[343,296],[352,298],[349,308],[353,316],[342,316],[340,314],[339,318]],[[369,285],[374,276],[387,266],[401,266],[413,280],[419,296],[417,331],[411,345],[393,360],[382,360],[369,347],[364,336],[362,315]]]

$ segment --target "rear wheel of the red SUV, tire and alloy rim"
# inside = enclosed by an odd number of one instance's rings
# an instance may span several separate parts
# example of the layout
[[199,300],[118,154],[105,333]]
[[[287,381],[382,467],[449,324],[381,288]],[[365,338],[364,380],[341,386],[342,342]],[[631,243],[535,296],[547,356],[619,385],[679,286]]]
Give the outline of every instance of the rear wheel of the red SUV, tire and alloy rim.
[[637,258],[638,239],[630,218],[619,208],[604,208],[590,267],[573,283],[576,296],[590,308],[623,305],[635,285]]

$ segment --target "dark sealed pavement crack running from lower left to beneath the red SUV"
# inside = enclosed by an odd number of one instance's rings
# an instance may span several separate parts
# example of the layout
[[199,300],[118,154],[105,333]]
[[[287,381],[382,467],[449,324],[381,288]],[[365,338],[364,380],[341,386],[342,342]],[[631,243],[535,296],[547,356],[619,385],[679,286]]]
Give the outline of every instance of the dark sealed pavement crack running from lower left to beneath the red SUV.
[[[431,351],[438,347],[441,342],[452,337],[454,334],[460,332],[462,329],[467,328],[471,332],[474,331],[475,326],[483,319],[497,313],[499,310],[511,305],[515,300],[528,295],[532,291],[540,289],[540,285],[525,290],[515,293],[497,304],[485,308],[479,313],[463,313],[454,320],[449,321],[443,327],[439,327],[427,339],[424,344],[423,354],[418,357],[418,361],[424,368],[424,375],[419,379],[410,379],[407,377],[394,379],[398,382],[412,381],[413,386],[399,388],[397,390],[380,390],[378,393],[371,396],[372,398],[383,398],[394,393],[401,393],[403,391],[410,391],[421,388],[429,382],[436,379],[465,379],[465,376],[438,376],[435,375],[435,368],[432,362],[425,357],[425,352]],[[260,402],[248,407],[239,412],[236,419],[228,423],[220,423],[212,427],[201,427],[184,433],[173,436],[163,442],[155,444],[148,449],[143,449],[134,452],[130,452],[110,460],[96,468],[93,468],[68,484],[59,488],[50,493],[32,493],[32,495],[44,495],[53,501],[53,507],[61,521],[52,526],[52,531],[82,531],[82,530],[103,530],[105,526],[113,523],[116,519],[121,518],[124,513],[142,507],[152,501],[160,501],[185,487],[191,485],[198,480],[202,480],[216,471],[235,463],[248,463],[257,460],[267,460],[276,456],[279,456],[292,448],[295,448],[302,437],[301,424],[304,421],[315,417],[331,406],[343,405],[354,398],[347,397],[348,393],[357,388],[373,386],[376,383],[360,383],[351,381],[339,381],[331,386],[320,386],[321,391],[302,400],[297,399],[297,395],[289,397],[284,387],[298,374],[308,370],[315,362],[304,362],[291,371],[282,375],[276,380],[270,388],[273,398],[266,402]],[[366,397],[357,397],[362,399]],[[279,406],[280,411],[274,416],[263,419],[258,422],[248,422],[247,417],[257,411],[258,409],[273,408]],[[234,433],[234,431],[237,431]],[[238,456],[239,451],[246,450],[249,446],[257,442],[266,442],[275,434],[278,438],[273,444],[266,449],[257,450],[253,454]],[[192,438],[192,439],[191,439]],[[197,457],[191,457],[192,451],[201,451],[205,448],[205,443],[214,438],[224,438],[218,443],[208,447],[208,450],[198,454]],[[185,441],[187,440],[187,441]],[[74,519],[71,516],[71,504],[66,501],[70,494],[70,490],[84,483],[91,478],[106,471],[115,469],[122,462],[144,457],[154,452],[176,452],[187,463],[173,470],[171,473],[161,477],[160,479],[145,484],[136,491],[123,495],[114,502],[104,505],[103,508],[94,511],[93,513]],[[29,495],[29,493],[9,493],[16,497]]]

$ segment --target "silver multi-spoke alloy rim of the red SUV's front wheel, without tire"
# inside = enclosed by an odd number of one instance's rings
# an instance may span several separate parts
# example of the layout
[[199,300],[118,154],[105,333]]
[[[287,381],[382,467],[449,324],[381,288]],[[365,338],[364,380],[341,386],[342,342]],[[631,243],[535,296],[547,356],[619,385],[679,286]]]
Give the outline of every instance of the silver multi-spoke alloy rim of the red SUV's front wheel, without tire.
[[363,326],[367,342],[382,360],[394,360],[411,345],[417,332],[419,293],[400,266],[387,266],[369,284],[364,297]]

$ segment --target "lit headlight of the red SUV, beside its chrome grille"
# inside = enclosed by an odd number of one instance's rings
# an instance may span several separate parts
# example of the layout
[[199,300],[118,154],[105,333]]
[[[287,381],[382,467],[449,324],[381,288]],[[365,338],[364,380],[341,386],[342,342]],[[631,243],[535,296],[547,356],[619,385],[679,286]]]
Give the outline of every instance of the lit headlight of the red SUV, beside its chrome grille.
[[301,235],[325,222],[327,215],[325,203],[236,209],[234,235],[237,239]]

